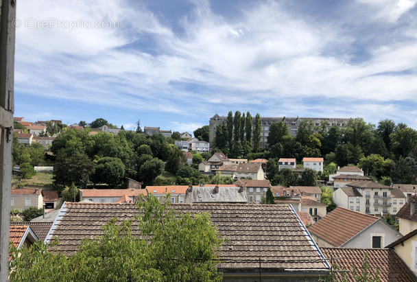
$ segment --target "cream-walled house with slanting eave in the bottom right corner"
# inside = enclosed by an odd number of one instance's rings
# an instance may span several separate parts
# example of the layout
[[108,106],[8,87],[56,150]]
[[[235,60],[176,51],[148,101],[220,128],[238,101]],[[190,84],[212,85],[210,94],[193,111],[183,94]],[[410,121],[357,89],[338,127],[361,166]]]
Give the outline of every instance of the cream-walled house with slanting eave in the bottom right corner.
[[[387,248],[393,249],[414,275],[417,275],[417,229],[392,242]],[[414,281],[417,281],[416,277]]]

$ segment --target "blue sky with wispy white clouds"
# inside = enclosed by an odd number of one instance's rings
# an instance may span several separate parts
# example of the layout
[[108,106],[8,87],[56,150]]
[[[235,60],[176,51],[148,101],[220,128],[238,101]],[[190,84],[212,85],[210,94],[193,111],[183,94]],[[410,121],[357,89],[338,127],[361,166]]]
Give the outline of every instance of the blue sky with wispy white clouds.
[[15,117],[190,132],[215,113],[417,128],[417,0],[20,0]]

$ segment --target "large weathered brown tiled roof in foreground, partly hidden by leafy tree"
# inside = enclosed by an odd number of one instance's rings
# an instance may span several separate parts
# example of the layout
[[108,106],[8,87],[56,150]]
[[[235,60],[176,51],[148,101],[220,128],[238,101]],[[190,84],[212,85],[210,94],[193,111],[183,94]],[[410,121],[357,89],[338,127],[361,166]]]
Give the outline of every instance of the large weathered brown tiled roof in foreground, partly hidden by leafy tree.
[[[171,204],[179,213],[211,215],[224,242],[219,268],[281,268],[285,270],[326,270],[320,250],[287,205],[260,204]],[[139,215],[135,204],[67,202],[63,216],[54,226],[51,240],[59,237],[58,250],[73,254],[84,237],[102,235],[102,226],[112,218],[126,220]],[[139,235],[137,224],[132,234]],[[48,238],[49,239],[49,238]]]

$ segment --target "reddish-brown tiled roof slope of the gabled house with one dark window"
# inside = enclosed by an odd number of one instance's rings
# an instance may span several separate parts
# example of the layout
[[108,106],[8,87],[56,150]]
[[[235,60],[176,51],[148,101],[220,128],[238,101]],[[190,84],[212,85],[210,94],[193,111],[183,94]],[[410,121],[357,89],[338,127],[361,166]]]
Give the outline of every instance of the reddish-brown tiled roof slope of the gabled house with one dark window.
[[339,247],[377,220],[379,218],[372,215],[337,207],[313,224],[309,228],[309,232],[329,244]]

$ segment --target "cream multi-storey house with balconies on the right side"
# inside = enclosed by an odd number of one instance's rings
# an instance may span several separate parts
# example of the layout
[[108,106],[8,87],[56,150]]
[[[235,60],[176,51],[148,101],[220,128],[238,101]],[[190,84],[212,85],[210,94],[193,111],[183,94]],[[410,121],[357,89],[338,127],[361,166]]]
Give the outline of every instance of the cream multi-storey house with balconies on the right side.
[[333,202],[340,207],[359,213],[396,215],[398,207],[402,206],[400,203],[405,201],[405,196],[398,192],[401,191],[380,183],[360,181],[348,183],[346,187],[334,191]]

